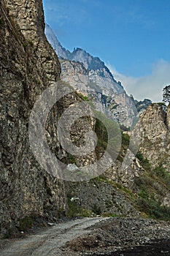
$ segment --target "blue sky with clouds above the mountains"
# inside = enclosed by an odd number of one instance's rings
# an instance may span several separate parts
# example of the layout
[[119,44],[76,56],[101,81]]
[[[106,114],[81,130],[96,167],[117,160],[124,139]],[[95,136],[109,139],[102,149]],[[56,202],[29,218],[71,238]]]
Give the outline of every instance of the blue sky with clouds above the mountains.
[[170,0],[43,0],[66,49],[98,56],[136,99],[162,101],[170,84]]

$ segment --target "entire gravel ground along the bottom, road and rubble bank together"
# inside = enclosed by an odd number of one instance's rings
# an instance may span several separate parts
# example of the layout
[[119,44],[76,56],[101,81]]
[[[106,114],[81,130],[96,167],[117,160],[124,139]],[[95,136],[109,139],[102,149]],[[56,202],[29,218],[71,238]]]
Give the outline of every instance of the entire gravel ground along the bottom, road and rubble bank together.
[[1,256],[170,256],[170,222],[131,217],[74,219],[9,239],[0,248]]

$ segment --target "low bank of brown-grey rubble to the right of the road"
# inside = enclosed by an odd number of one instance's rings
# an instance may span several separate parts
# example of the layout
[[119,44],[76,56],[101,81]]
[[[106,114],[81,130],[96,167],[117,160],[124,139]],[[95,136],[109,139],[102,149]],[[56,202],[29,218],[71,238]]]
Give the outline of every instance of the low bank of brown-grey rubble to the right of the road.
[[123,253],[124,249],[170,239],[170,223],[153,219],[110,218],[101,220],[90,230],[88,236],[69,241],[66,251],[75,255],[120,255],[113,252]]

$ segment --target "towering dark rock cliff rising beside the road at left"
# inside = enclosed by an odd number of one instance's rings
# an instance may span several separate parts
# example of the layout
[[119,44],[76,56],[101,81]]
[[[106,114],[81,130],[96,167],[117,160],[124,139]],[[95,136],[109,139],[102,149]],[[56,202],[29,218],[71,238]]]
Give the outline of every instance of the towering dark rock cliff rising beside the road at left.
[[[28,142],[28,118],[39,94],[61,69],[44,34],[42,1],[0,5],[0,212],[1,234],[26,216],[66,211],[63,181],[48,175]],[[21,31],[20,31],[21,30]],[[53,131],[54,114],[49,118]],[[52,143],[53,144],[53,143]]]

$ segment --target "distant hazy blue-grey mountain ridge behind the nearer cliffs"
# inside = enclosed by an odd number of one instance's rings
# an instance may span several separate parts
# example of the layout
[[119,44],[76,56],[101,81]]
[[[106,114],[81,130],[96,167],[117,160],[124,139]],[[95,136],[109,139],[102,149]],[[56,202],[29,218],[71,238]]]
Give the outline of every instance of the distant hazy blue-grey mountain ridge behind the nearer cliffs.
[[134,100],[128,97],[121,83],[113,78],[104,62],[80,48],[69,52],[61,46],[49,26],[46,26],[46,35],[61,58],[61,78],[88,96],[97,110],[131,127],[137,115]]

